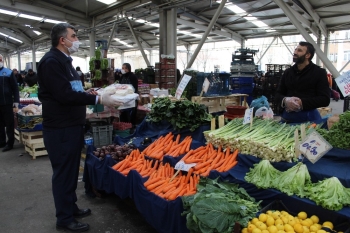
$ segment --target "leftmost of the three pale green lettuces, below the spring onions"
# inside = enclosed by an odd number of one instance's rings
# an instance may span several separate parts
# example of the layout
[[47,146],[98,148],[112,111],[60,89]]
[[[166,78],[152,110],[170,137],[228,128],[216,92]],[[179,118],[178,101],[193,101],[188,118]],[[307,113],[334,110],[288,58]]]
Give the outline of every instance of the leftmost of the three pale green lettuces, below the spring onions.
[[269,160],[263,159],[254,164],[254,168],[246,174],[244,179],[257,186],[258,188],[272,188],[274,180],[278,179],[281,172],[274,168]]

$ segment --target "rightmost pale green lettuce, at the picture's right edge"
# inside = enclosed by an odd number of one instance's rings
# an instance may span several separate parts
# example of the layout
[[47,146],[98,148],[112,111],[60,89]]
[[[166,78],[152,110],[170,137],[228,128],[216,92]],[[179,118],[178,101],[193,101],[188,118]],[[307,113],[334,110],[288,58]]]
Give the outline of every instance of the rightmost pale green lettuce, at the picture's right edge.
[[308,197],[325,209],[338,211],[350,205],[350,189],[337,177],[331,177],[305,187]]

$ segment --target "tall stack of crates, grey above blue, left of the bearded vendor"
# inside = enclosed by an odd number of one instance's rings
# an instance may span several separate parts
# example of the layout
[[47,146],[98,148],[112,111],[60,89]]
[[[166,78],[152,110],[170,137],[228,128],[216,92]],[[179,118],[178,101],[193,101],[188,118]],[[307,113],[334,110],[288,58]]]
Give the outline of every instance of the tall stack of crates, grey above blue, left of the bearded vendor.
[[238,49],[232,55],[230,90],[232,94],[247,94],[248,104],[251,103],[253,97],[253,83],[256,74],[256,66],[254,63],[254,55],[258,50]]

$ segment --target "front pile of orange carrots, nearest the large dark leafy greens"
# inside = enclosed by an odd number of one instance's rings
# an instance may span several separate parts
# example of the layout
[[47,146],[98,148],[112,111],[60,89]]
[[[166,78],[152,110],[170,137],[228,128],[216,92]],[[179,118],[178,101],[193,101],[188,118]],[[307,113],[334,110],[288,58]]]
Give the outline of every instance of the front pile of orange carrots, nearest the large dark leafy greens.
[[193,168],[190,168],[186,175],[182,175],[180,171],[174,177],[174,168],[166,163],[165,165],[160,165],[158,170],[149,177],[144,185],[150,192],[172,201],[179,196],[195,194],[199,179],[199,175],[193,174]]

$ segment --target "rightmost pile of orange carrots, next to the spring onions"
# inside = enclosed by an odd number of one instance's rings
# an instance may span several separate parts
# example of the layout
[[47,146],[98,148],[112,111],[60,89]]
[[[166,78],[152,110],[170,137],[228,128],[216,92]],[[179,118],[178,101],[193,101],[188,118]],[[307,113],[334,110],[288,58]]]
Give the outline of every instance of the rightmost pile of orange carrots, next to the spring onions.
[[186,164],[196,163],[193,167],[194,173],[201,176],[208,176],[211,170],[225,172],[234,167],[238,163],[237,155],[238,150],[234,150],[231,153],[228,147],[225,151],[222,151],[221,146],[215,150],[213,145],[208,143],[206,146],[190,150],[181,160]]

